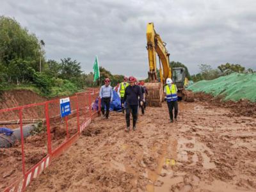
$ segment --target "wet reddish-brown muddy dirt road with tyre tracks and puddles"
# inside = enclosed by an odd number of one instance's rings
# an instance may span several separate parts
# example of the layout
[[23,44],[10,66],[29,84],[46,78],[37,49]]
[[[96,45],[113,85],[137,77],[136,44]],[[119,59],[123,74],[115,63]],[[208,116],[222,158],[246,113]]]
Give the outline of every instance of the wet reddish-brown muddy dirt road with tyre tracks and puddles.
[[203,102],[96,118],[28,191],[256,191],[256,119]]

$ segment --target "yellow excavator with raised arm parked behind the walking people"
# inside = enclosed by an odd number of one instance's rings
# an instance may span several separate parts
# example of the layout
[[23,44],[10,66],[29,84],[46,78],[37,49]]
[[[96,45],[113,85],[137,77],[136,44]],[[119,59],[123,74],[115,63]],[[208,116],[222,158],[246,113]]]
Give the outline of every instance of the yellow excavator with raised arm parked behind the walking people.
[[[156,33],[152,22],[147,25],[147,51],[148,51],[148,80],[145,83],[148,90],[147,104],[148,106],[161,107],[164,99],[163,86],[167,78],[172,78],[173,83],[177,85],[178,97],[182,100],[192,102],[193,93],[185,90],[188,79],[185,76],[185,68],[170,68],[170,60],[166,49],[166,43]],[[156,54],[159,56],[159,76],[157,77]]]

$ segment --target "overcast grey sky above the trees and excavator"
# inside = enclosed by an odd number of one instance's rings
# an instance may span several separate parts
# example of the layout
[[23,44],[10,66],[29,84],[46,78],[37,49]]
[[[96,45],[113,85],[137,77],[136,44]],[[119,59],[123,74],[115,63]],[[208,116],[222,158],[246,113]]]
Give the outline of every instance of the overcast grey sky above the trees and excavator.
[[44,40],[47,59],[76,59],[84,72],[97,55],[113,74],[147,77],[148,22],[191,74],[200,63],[256,70],[255,0],[1,0],[0,15]]

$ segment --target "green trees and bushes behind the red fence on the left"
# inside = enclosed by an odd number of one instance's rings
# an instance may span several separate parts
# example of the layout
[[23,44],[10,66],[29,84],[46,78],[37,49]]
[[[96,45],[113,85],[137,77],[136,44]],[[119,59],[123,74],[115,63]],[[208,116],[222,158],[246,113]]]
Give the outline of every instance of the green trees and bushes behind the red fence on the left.
[[17,20],[1,16],[0,90],[29,86],[35,87],[42,95],[56,97],[99,86],[104,77],[110,77],[113,84],[124,78],[100,67],[101,82],[93,82],[93,73],[85,74],[77,60],[46,60],[44,46],[44,40],[38,40]]

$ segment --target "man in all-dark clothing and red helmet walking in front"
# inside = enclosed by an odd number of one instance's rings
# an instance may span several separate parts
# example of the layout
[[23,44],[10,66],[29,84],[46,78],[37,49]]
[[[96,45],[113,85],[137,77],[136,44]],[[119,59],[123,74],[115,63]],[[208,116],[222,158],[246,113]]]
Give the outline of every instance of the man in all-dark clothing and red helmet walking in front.
[[124,100],[122,102],[122,106],[124,107],[124,102],[126,103],[125,106],[125,119],[126,119],[126,131],[130,131],[130,113],[132,113],[132,129],[135,131],[136,129],[136,121],[138,118],[138,104],[139,104],[139,98],[140,97],[140,104],[143,105],[142,102],[142,94],[140,86],[135,85],[135,78],[129,77],[129,86],[125,89],[124,93]]

